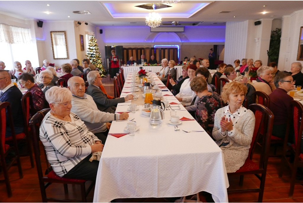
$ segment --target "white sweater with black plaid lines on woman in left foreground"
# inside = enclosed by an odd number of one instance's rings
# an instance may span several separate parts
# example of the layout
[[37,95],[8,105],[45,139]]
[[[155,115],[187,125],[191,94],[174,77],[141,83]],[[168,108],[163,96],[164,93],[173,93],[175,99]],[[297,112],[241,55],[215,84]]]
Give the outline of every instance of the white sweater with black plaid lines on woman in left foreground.
[[75,113],[71,112],[70,117],[72,122],[67,122],[48,112],[40,127],[48,161],[60,177],[92,153],[90,145],[100,141]]

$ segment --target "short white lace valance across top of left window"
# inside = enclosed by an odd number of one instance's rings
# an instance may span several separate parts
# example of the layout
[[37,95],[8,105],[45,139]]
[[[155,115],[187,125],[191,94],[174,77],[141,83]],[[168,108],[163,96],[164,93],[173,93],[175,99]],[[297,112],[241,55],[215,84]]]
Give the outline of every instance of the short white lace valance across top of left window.
[[29,29],[0,23],[0,42],[9,44],[30,43]]

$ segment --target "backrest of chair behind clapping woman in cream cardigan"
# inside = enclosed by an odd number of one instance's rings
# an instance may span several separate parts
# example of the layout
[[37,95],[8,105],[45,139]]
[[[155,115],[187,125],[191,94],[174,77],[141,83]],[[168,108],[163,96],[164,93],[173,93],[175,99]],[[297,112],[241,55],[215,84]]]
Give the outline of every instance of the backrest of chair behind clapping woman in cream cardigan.
[[[251,147],[249,149],[248,157],[252,160],[255,147],[258,145],[259,138],[262,138],[262,146],[260,153],[259,168],[266,169],[268,154],[271,142],[271,132],[274,123],[274,114],[267,107],[261,104],[251,104],[249,109],[255,113],[255,129],[251,140]],[[261,117],[261,119],[259,119]],[[263,127],[263,136],[261,134],[261,128]]]

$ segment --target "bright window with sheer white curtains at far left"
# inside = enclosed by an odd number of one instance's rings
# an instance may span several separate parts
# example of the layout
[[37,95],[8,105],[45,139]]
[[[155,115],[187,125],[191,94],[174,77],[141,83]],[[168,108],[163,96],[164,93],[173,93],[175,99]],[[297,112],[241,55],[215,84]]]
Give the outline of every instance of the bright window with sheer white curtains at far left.
[[23,67],[25,60],[36,64],[36,49],[29,29],[0,23],[0,61],[5,63],[5,69],[12,70],[14,61],[19,61]]

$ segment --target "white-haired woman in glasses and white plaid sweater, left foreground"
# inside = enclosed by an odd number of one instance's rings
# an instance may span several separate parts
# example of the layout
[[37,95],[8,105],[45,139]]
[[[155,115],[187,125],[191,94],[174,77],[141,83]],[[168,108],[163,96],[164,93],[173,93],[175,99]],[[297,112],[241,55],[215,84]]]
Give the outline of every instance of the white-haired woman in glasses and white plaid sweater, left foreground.
[[71,112],[71,91],[55,86],[45,97],[51,110],[42,120],[40,140],[54,172],[63,178],[95,181],[99,161],[89,159],[92,153],[102,152],[104,145]]

